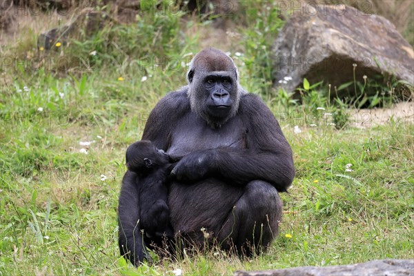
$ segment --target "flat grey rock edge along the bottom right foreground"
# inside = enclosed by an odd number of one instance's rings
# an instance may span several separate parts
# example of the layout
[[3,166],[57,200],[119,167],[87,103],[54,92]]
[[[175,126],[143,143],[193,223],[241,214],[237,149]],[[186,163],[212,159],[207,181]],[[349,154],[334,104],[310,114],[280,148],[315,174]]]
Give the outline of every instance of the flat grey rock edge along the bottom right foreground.
[[346,266],[301,266],[263,271],[236,271],[234,276],[414,276],[413,259],[384,259]]

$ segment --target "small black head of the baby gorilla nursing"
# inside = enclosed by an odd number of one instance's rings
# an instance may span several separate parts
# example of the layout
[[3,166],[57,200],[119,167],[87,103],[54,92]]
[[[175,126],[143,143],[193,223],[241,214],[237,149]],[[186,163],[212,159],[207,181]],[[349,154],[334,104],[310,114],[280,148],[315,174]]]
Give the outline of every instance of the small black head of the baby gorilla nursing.
[[149,172],[168,163],[168,154],[159,150],[151,141],[137,141],[126,150],[126,166],[132,172]]

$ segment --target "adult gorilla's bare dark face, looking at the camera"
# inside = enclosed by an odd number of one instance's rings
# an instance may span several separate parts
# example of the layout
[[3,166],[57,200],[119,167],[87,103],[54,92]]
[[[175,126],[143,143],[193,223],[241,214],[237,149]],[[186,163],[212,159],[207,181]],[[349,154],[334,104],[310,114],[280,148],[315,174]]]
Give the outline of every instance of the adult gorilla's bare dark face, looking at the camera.
[[227,72],[210,73],[204,77],[203,83],[208,115],[217,119],[228,117],[235,100],[230,97],[234,86],[230,75]]

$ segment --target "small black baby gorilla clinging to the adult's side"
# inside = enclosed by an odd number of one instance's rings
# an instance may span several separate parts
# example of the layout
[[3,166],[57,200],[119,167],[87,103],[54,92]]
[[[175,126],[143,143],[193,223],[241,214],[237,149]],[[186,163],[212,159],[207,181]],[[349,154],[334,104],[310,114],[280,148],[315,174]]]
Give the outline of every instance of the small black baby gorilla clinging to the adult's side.
[[137,174],[139,186],[139,225],[148,237],[153,235],[172,237],[170,209],[166,203],[166,182],[172,168],[170,156],[156,148],[151,141],[137,141],[126,150],[126,166]]

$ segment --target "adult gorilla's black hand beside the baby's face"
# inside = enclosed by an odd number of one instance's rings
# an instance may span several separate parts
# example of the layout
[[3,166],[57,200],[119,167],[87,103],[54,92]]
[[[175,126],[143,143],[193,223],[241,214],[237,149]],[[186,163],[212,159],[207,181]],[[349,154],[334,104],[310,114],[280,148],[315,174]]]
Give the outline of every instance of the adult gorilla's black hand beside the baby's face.
[[171,171],[178,181],[194,183],[213,172],[215,151],[197,150],[183,157]]

